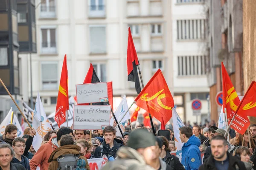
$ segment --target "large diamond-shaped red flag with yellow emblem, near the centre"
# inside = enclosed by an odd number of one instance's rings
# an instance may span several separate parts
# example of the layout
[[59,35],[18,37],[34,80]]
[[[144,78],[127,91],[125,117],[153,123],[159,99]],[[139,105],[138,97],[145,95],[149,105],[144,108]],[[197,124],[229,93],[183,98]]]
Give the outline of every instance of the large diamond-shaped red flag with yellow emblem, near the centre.
[[160,69],[149,80],[135,99],[136,105],[151,113],[157,120],[168,122],[172,118],[174,102]]

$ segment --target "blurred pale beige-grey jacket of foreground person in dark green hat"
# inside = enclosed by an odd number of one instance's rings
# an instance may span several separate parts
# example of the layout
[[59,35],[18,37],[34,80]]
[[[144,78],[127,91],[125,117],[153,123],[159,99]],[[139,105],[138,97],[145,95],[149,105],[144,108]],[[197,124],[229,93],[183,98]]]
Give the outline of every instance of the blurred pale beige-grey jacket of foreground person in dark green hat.
[[131,147],[121,147],[117,156],[115,161],[108,162],[102,170],[154,170],[146,164],[143,156]]

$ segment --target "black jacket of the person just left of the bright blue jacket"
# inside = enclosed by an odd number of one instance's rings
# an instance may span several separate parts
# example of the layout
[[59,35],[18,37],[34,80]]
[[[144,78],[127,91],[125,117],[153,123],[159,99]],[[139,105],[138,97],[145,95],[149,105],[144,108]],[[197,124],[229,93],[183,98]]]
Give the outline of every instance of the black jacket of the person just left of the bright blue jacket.
[[166,162],[167,166],[169,165],[169,167],[171,167],[171,169],[168,170],[185,170],[178,157],[172,155],[168,151],[166,152],[166,157],[163,159],[163,161]]

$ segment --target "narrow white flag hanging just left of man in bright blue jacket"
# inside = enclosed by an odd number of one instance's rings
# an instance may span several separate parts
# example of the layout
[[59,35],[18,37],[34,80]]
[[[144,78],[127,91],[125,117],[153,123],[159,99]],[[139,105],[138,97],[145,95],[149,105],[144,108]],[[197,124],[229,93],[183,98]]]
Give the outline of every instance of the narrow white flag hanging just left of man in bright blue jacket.
[[180,159],[181,162],[181,148],[184,143],[180,141],[180,127],[185,126],[182,120],[180,119],[180,116],[175,111],[175,108],[172,108],[172,121],[173,121],[173,132],[175,136],[175,150],[176,150],[176,156]]

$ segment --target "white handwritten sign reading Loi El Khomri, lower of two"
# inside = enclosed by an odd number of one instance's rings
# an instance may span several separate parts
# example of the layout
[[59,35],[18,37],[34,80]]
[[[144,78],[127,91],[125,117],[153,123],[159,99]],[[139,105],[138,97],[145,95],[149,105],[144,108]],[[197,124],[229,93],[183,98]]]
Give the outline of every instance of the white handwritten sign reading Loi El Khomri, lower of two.
[[75,105],[74,130],[102,130],[110,125],[110,105]]

